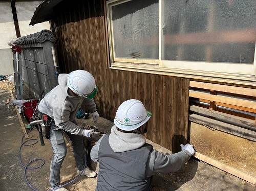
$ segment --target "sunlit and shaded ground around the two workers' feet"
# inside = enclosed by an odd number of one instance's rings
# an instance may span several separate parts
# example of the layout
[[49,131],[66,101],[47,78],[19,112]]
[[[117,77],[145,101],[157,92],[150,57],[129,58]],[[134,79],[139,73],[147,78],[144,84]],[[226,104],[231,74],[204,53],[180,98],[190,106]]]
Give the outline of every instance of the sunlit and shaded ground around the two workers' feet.
[[[7,99],[10,103],[7,104]],[[0,190],[49,190],[49,166],[52,157],[52,150],[49,141],[45,139],[45,146],[40,145],[38,132],[36,129],[28,132],[29,139],[23,139],[24,135],[14,105],[11,102],[11,94],[9,89],[0,87]],[[25,126],[28,124],[23,120]],[[91,116],[87,120],[78,120],[80,126],[86,127],[88,125],[97,126],[100,131],[108,131],[112,122],[100,118],[99,122],[93,124]],[[36,142],[35,145],[32,145]],[[22,142],[27,141],[26,145],[22,146]],[[159,145],[150,142],[155,149],[165,154],[171,152]],[[88,147],[93,146],[89,140],[86,140]],[[76,166],[73,157],[72,147],[67,139],[68,153],[61,168],[61,184],[72,181],[77,177]],[[21,147],[21,149],[20,149]],[[19,154],[20,149],[20,154]],[[20,164],[19,156],[24,167]],[[88,156],[89,157],[89,156]],[[34,159],[44,159],[45,164],[41,168],[35,170],[27,170],[25,178],[25,166]],[[98,165],[88,160],[89,166],[93,170],[98,171]],[[36,160],[28,165],[29,168],[40,166],[42,160]],[[27,179],[27,180],[26,180]],[[28,182],[28,183],[27,183]],[[69,190],[95,190],[97,184],[97,177],[87,178],[79,177],[72,183],[68,184],[66,188]],[[33,187],[33,189],[31,187]],[[154,176],[153,190],[180,190],[180,191],[256,191],[255,186],[240,178],[225,173],[207,163],[191,158],[180,171],[176,173],[159,174]]]

